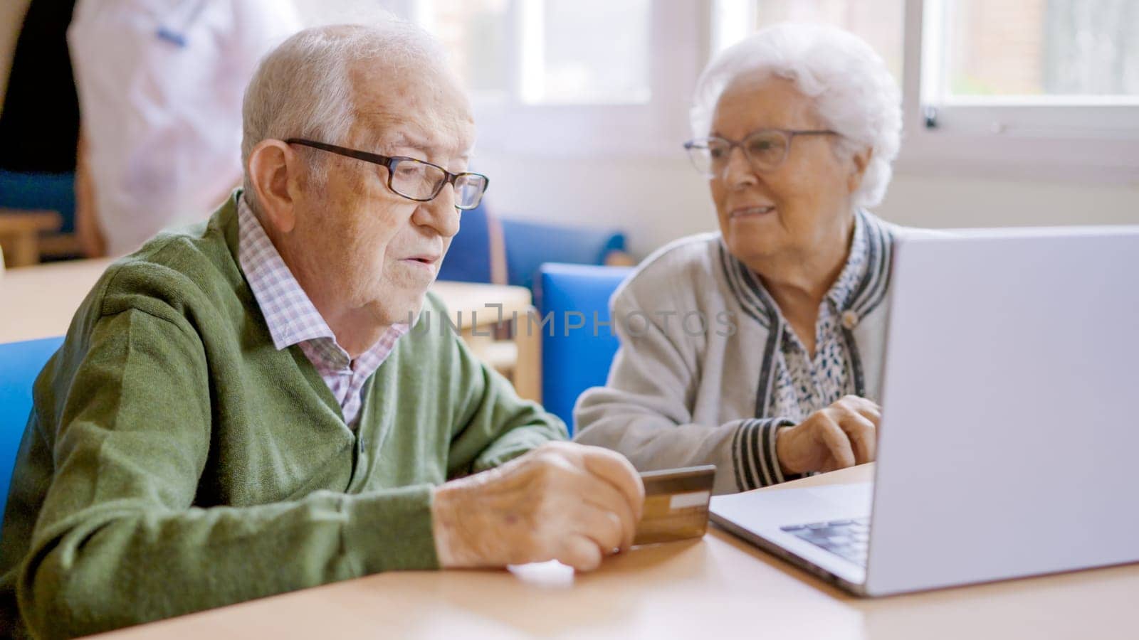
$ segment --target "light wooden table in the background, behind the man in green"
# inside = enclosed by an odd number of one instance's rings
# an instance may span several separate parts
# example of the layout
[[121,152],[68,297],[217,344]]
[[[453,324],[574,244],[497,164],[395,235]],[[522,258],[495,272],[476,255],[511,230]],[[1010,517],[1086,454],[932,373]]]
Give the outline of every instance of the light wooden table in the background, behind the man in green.
[[[110,259],[76,260],[42,264],[8,271],[0,278],[0,343],[31,340],[67,333],[72,315],[96,280],[113,262]],[[514,331],[517,352],[513,379],[518,395],[541,400],[541,333],[527,331],[526,313],[532,311],[530,289],[472,282],[432,285],[451,313],[457,326],[474,351],[485,345],[480,334],[485,334],[499,319],[497,307],[502,305],[502,317],[519,318],[521,330]],[[437,330],[432,319],[432,330]]]

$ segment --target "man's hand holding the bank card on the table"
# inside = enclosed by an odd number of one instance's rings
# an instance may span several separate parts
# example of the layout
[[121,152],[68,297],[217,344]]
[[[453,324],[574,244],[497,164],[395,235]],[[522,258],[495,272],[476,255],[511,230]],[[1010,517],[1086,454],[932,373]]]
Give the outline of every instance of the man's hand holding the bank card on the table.
[[620,453],[551,442],[435,489],[433,532],[445,568],[558,560],[592,571],[632,544],[645,486]]

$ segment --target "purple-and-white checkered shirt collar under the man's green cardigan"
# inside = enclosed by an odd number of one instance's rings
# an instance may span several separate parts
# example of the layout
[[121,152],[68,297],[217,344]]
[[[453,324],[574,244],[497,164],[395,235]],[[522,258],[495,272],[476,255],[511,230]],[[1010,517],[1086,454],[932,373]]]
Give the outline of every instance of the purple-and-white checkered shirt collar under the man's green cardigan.
[[341,405],[344,422],[355,428],[360,417],[360,392],[364,381],[392,353],[395,342],[408,331],[394,325],[379,342],[352,360],[336,343],[336,336],[293,277],[261,222],[245,204],[238,204],[237,259],[265,317],[278,350],[300,345]]

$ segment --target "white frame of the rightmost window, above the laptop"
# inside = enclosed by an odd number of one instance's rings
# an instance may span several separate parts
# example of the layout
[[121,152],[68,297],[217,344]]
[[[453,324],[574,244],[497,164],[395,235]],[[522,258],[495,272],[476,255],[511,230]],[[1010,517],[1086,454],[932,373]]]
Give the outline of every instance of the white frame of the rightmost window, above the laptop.
[[[1139,180],[1139,104],[1079,97],[934,99],[944,0],[906,0],[899,171],[1126,183]],[[1089,102],[1099,104],[1089,104]],[[933,109],[933,110],[931,110]],[[933,117],[933,126],[927,118]]]

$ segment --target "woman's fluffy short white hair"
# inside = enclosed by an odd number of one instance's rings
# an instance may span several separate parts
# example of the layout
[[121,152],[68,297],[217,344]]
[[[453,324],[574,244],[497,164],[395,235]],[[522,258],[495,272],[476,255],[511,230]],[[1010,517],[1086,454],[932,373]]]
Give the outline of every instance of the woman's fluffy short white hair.
[[855,206],[874,206],[886,195],[902,132],[901,92],[878,56],[862,39],[831,26],[780,24],[763,28],[713,59],[693,97],[693,134],[712,130],[716,102],[731,82],[748,73],[790,80],[814,100],[818,116],[838,132],[847,157],[874,149]]

